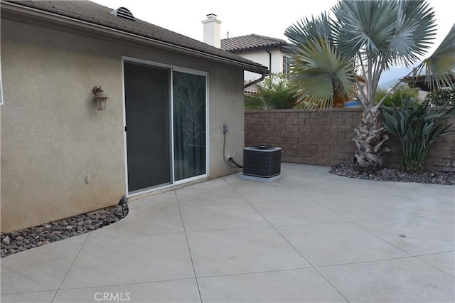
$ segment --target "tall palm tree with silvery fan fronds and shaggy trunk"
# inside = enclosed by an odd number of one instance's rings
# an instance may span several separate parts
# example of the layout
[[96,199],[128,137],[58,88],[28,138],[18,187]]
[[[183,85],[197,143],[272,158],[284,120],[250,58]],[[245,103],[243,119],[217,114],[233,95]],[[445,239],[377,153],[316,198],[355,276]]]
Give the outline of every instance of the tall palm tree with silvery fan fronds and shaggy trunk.
[[[375,102],[380,75],[424,55],[436,31],[434,12],[426,1],[401,0],[339,1],[331,11],[333,18],[325,13],[305,18],[284,32],[291,41],[290,78],[298,84],[298,101],[311,107],[331,107],[340,93],[360,101],[363,116],[354,129],[353,164],[379,169],[388,139],[379,115],[385,98]],[[454,33],[449,36],[437,55],[422,63],[441,80],[454,73]]]

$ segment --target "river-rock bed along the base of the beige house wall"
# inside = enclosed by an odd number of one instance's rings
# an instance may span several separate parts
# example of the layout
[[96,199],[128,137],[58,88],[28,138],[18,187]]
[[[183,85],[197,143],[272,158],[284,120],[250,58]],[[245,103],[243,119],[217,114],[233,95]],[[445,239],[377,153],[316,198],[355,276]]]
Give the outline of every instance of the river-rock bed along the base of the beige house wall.
[[122,220],[127,214],[128,205],[125,203],[123,211],[122,206],[110,206],[14,233],[1,233],[1,257],[97,230]]

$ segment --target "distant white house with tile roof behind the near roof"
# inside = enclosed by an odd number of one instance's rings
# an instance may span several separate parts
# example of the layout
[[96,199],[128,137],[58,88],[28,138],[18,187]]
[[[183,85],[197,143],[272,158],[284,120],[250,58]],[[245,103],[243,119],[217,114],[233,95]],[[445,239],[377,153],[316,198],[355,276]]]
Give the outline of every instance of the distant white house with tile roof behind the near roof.
[[[270,73],[289,73],[288,57],[283,47],[286,41],[255,34],[221,39],[221,49],[255,61],[269,68]],[[245,81],[254,81],[257,74],[245,71]]]

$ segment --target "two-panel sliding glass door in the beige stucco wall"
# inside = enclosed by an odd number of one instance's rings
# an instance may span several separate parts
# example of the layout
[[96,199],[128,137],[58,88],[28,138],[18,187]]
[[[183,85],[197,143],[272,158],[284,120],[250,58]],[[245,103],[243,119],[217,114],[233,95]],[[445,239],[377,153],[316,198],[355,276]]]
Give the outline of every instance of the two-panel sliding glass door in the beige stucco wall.
[[130,194],[207,176],[206,83],[202,73],[124,62]]

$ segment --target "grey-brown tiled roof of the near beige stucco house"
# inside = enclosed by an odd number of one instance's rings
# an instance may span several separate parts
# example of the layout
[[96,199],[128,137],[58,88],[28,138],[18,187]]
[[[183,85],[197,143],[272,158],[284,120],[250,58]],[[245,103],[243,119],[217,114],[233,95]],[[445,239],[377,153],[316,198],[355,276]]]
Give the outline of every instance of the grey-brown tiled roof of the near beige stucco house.
[[[126,1],[127,3],[127,1]],[[259,63],[255,63],[252,60],[248,60],[237,56],[233,53],[229,53],[225,50],[209,46],[206,43],[197,41],[195,39],[183,36],[179,33],[169,31],[166,28],[161,28],[151,23],[136,19],[136,21],[129,20],[114,16],[111,14],[114,9],[109,9],[106,6],[96,4],[92,1],[4,1],[1,0],[1,10],[4,14],[4,10],[7,9],[4,4],[14,4],[16,6],[26,6],[29,9],[36,9],[39,11],[46,11],[59,16],[65,16],[67,18],[73,18],[78,21],[85,21],[88,23],[94,23],[98,26],[104,26],[112,28],[113,30],[122,31],[125,33],[133,33],[137,36],[144,38],[151,38],[154,41],[167,43],[172,46],[181,47],[188,50],[195,50],[196,52],[202,52],[207,55],[214,55],[218,58],[227,59],[228,62],[239,62],[246,63],[253,70],[264,70],[267,71],[267,67]],[[2,16],[3,17],[3,16]]]

